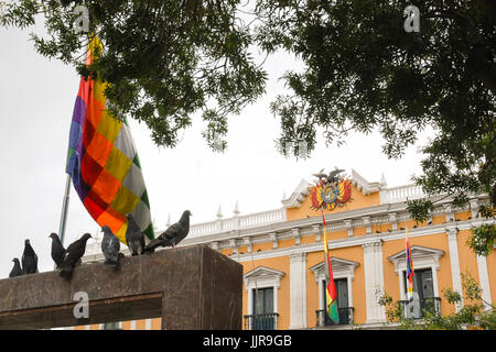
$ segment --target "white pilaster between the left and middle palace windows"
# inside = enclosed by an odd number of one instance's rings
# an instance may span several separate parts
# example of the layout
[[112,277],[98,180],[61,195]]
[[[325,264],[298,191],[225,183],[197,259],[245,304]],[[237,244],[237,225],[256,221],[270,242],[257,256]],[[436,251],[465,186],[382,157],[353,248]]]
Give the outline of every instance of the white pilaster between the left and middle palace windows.
[[306,253],[290,254],[290,329],[306,328]]

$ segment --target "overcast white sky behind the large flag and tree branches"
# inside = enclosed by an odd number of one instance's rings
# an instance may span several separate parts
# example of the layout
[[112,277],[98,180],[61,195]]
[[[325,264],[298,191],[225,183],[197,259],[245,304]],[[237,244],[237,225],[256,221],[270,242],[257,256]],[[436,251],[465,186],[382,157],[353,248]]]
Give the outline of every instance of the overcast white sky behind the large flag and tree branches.
[[[40,272],[53,268],[48,234],[58,232],[68,132],[79,85],[73,67],[35,53],[30,32],[0,28],[0,278],[8,277],[12,258],[22,255],[24,239],[31,240],[39,255]],[[198,223],[215,220],[219,206],[224,217],[231,217],[237,200],[241,215],[280,208],[283,191],[290,195],[302,178],[312,180],[311,174],[323,167],[337,166],[347,173],[354,168],[369,182],[379,180],[384,173],[389,186],[409,184],[411,175],[420,173],[416,146],[402,160],[389,161],[381,154],[378,134],[354,134],[346,145],[330,148],[321,139],[306,161],[280,156],[273,142],[279,120],[269,103],[283,92],[278,78],[294,65],[284,55],[267,59],[267,95],[230,118],[225,154],[206,146],[200,118],[173,150],[158,148],[145,127],[130,121],[159,229],[169,215],[175,222],[185,209]],[[71,189],[65,244],[98,229]]]

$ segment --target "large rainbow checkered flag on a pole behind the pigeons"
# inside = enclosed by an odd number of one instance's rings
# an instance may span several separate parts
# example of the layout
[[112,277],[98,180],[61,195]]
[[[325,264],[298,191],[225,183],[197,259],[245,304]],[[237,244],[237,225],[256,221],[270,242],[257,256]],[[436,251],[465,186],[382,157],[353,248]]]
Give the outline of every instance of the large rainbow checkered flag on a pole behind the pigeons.
[[[98,50],[97,50],[98,48]],[[90,65],[103,45],[94,36],[88,45]],[[86,210],[100,226],[108,226],[126,243],[128,219],[153,239],[150,204],[140,160],[129,125],[107,110],[106,82],[80,78],[71,123],[66,172]]]

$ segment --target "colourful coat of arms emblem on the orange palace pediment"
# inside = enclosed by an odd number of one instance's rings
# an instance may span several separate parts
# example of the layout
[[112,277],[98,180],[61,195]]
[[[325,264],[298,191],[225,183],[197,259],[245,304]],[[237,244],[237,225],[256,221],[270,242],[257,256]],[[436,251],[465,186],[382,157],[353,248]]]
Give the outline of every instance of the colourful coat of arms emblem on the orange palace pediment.
[[328,175],[323,174],[323,170],[313,174],[319,177],[319,180],[312,190],[311,208],[333,210],[336,207],[343,207],[352,197],[352,182],[338,176],[344,169],[336,168]]

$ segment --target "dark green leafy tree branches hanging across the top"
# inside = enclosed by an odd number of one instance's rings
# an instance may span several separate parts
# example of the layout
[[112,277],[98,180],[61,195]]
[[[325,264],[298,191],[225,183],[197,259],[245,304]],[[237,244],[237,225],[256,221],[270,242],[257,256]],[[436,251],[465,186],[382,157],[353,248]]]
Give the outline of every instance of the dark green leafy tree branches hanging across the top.
[[[287,72],[287,92],[270,106],[280,145],[305,142],[311,152],[319,140],[339,145],[351,132],[377,130],[384,153],[399,158],[433,130],[417,184],[453,195],[454,207],[486,194],[479,215],[494,219],[495,1],[254,0],[250,10],[237,0],[0,3],[4,26],[44,20],[48,35],[32,35],[37,52],[106,80],[112,112],[143,121],[157,145],[175,146],[201,111],[207,144],[224,150],[228,116],[265,94],[268,76],[252,48],[293,54],[303,69]],[[420,10],[419,32],[403,29],[410,3]],[[87,33],[74,25],[82,4]],[[105,51],[86,68],[89,33]],[[433,206],[409,208],[421,221]],[[495,237],[494,223],[478,228],[471,246],[487,254]]]

